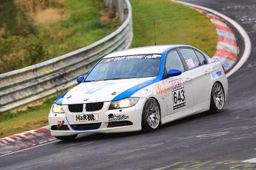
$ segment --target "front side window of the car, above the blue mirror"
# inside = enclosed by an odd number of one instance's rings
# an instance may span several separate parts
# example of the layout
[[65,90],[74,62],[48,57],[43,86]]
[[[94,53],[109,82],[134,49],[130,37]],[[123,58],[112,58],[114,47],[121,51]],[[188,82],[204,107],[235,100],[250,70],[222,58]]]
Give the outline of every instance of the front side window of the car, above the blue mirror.
[[166,57],[167,72],[171,69],[179,69],[182,72],[184,71],[184,66],[176,50],[173,50],[170,53],[168,53]]

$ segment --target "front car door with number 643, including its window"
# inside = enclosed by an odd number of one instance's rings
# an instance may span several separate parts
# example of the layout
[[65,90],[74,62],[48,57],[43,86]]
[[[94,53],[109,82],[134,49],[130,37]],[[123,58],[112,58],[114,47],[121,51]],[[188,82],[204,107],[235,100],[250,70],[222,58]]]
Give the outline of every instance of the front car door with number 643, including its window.
[[173,114],[191,108],[193,105],[192,83],[188,80],[188,73],[184,69],[177,50],[172,50],[166,56],[166,73],[171,69],[179,69],[182,73],[166,80],[171,86],[170,95],[167,97],[167,114]]

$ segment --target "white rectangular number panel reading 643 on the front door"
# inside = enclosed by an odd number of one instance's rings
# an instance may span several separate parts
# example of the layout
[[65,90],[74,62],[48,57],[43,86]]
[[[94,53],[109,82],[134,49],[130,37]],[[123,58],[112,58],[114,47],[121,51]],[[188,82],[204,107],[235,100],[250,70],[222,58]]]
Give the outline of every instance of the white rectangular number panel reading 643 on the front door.
[[182,79],[177,79],[170,82],[172,89],[172,101],[173,101],[173,109],[178,109],[184,107],[186,105],[185,101],[185,90],[184,83]]

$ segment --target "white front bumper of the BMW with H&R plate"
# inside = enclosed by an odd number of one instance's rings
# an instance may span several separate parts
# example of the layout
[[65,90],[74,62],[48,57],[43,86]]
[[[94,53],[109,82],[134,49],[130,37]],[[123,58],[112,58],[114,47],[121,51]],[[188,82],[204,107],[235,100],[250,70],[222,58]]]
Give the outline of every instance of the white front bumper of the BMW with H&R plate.
[[[80,133],[119,133],[126,131],[138,131],[141,130],[141,118],[143,106],[146,101],[146,98],[140,98],[138,103],[133,107],[123,108],[123,109],[115,109],[108,110],[110,101],[104,102],[104,106],[100,111],[94,112],[82,112],[82,113],[71,113],[68,111],[68,105],[63,105],[63,109],[65,113],[53,113],[52,109],[49,112],[48,121],[49,128],[52,136],[65,136],[65,135],[75,135]],[[73,116],[74,114],[98,114],[98,121],[87,121],[87,122],[74,122]],[[109,118],[109,115],[115,115],[115,118]],[[119,118],[117,118],[119,117]],[[120,118],[121,117],[121,118]],[[67,130],[56,130],[53,127],[57,126],[59,121],[64,122],[63,125],[68,127]],[[115,125],[109,126],[113,124],[112,122],[128,122],[127,125]],[[111,123],[110,123],[111,122]],[[93,129],[77,129],[74,126],[79,125],[91,125],[98,124],[99,128]]]

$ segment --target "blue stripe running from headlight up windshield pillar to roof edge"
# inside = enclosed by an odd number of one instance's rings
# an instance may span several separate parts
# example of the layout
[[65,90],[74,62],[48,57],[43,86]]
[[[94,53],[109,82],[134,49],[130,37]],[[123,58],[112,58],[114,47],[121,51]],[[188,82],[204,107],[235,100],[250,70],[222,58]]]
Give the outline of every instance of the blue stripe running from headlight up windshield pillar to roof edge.
[[190,45],[175,45],[175,46],[172,46],[171,48],[165,49],[162,53],[162,56],[161,56],[160,71],[159,71],[159,74],[156,78],[148,80],[148,81],[143,82],[141,84],[138,84],[134,87],[131,87],[131,88],[127,89],[126,91],[123,91],[121,94],[115,96],[114,99],[112,99],[112,101],[121,100],[121,99],[125,99],[127,97],[130,97],[131,95],[133,95],[138,90],[141,90],[142,88],[144,88],[146,86],[149,86],[150,84],[159,82],[160,80],[163,80],[164,79],[164,77],[163,77],[164,76],[164,62],[166,60],[166,54],[172,49],[182,48],[182,47],[192,48],[192,46],[190,46]]

